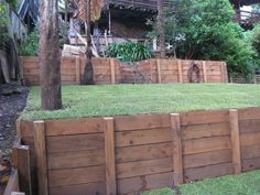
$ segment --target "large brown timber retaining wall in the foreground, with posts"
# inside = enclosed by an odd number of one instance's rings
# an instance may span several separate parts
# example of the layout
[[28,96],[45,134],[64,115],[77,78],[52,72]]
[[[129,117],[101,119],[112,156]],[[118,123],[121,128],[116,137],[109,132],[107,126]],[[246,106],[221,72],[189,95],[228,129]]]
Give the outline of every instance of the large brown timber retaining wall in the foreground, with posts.
[[19,134],[40,195],[116,195],[260,169],[259,126],[247,108],[20,121]]

